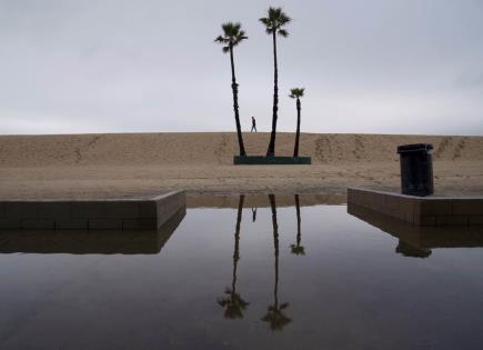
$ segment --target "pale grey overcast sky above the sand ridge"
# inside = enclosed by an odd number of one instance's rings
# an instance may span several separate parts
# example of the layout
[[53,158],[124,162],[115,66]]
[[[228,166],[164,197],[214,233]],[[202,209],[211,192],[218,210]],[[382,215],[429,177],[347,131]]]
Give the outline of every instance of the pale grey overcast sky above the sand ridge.
[[232,131],[229,56],[240,21],[242,126],[269,130],[269,6],[279,40],[279,129],[304,87],[312,132],[483,134],[483,0],[0,0],[0,133]]

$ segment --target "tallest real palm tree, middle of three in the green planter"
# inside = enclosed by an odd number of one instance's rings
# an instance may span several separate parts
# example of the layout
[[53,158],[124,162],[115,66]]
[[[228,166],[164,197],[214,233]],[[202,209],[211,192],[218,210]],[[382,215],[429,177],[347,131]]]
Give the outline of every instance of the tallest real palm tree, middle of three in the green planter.
[[276,63],[276,34],[286,38],[289,32],[283,29],[283,26],[290,22],[290,17],[283,13],[281,8],[269,8],[268,17],[261,18],[260,22],[265,26],[265,32],[272,34],[273,38],[273,111],[272,111],[272,133],[270,134],[269,149],[266,157],[275,156],[275,137],[276,137],[276,119],[279,111],[279,68]]

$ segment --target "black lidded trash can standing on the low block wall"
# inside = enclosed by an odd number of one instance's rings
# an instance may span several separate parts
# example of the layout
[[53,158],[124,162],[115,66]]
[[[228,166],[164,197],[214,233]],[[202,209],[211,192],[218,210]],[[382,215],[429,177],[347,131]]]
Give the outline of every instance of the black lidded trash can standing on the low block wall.
[[431,143],[398,147],[401,159],[401,191],[403,194],[433,194],[433,160]]

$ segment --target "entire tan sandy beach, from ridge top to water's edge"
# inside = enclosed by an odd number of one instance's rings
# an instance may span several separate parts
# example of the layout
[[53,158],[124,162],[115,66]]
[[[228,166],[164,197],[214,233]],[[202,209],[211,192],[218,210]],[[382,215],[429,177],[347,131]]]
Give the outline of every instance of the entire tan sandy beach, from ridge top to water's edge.
[[[244,133],[264,154],[268,133]],[[290,156],[293,133],[279,133]],[[303,133],[312,166],[232,166],[235,133],[118,133],[0,137],[0,198],[132,197],[188,193],[324,193],[346,187],[398,189],[398,144],[429,142],[436,194],[483,194],[483,137]]]

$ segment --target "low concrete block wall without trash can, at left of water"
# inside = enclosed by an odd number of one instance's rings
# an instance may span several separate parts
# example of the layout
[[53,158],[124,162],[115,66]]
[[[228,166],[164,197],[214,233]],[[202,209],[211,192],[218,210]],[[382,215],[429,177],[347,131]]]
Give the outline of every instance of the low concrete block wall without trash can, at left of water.
[[182,207],[183,191],[147,199],[0,201],[0,229],[158,229]]

